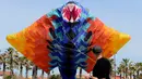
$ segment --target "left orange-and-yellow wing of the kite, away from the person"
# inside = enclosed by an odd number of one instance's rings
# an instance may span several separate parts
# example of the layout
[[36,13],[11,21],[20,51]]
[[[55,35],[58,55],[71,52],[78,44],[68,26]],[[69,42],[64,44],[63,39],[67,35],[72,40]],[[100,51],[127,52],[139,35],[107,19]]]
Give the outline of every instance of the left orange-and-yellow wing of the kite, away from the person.
[[47,49],[47,40],[52,40],[49,28],[52,28],[50,18],[44,15],[22,31],[7,36],[12,47],[47,73],[51,67],[50,50]]

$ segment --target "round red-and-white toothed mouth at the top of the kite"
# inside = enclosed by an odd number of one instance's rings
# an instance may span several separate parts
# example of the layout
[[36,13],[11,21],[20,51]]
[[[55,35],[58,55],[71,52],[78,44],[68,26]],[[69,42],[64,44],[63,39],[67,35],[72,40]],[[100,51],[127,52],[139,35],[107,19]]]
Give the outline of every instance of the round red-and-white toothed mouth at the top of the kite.
[[73,2],[69,2],[62,9],[62,17],[66,22],[75,23],[81,17],[81,8]]

